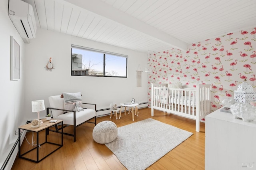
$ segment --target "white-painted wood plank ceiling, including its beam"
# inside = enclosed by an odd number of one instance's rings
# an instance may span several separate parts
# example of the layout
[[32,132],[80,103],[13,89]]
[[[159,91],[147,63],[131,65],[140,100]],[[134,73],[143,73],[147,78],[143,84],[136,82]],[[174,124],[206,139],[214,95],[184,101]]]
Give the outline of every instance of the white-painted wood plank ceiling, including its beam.
[[38,28],[147,53],[256,27],[256,0],[24,0]]

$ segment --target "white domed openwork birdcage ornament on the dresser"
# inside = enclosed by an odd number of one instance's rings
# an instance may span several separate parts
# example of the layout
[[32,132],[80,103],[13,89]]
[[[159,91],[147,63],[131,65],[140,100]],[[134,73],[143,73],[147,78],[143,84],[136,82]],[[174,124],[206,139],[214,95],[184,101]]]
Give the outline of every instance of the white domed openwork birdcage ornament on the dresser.
[[234,91],[234,100],[239,103],[250,103],[256,101],[256,92],[253,91],[252,85],[249,85],[244,79],[244,82],[238,85]]

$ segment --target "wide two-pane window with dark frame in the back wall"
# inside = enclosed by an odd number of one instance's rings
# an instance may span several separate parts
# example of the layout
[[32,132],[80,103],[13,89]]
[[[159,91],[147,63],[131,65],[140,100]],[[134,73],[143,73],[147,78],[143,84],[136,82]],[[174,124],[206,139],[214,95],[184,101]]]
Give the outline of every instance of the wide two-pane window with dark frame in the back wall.
[[72,45],[71,75],[127,77],[127,55]]

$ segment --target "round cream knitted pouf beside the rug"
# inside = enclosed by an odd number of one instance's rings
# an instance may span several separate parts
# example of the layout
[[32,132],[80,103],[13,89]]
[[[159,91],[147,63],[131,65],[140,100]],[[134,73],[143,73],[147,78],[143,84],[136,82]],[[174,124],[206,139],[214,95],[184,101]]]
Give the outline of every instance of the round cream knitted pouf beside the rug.
[[105,144],[112,142],[117,137],[117,126],[112,121],[103,121],[98,123],[93,131],[92,131],[92,137],[95,140],[95,142],[100,144]]

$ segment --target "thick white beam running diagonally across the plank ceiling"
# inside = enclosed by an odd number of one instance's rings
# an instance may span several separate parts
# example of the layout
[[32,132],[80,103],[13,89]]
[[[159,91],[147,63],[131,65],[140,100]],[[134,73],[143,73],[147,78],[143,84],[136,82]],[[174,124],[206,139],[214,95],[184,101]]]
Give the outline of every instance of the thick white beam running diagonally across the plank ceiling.
[[101,0],[64,0],[64,1],[69,2],[70,4],[78,6],[85,10],[88,10],[90,12],[93,12],[94,14],[97,14],[108,20],[112,20],[118,24],[122,24],[123,26],[126,26],[136,32],[139,32],[140,34],[144,34],[149,38],[157,40],[158,42],[162,42],[166,45],[170,45],[171,47],[178,48],[184,51],[187,50],[188,45],[186,43],[126,14],[125,12],[122,12],[102,2]]

